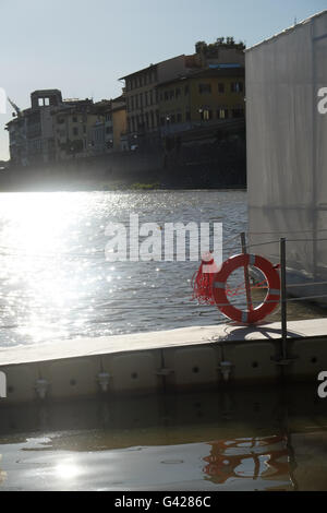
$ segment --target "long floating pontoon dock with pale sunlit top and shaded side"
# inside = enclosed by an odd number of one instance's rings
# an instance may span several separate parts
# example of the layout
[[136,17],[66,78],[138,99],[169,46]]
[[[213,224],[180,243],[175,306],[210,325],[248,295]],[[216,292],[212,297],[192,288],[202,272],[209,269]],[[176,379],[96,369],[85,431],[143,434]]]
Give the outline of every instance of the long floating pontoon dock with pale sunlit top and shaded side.
[[[220,324],[0,349],[1,405],[245,383],[317,381],[327,371],[327,319]],[[2,374],[3,378],[3,374]]]

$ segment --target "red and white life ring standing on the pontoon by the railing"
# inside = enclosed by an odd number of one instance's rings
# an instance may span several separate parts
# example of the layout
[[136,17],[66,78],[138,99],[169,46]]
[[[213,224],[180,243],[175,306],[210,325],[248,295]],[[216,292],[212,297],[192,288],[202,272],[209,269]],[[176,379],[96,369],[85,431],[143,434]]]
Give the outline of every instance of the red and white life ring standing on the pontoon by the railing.
[[[262,305],[253,310],[242,311],[230,303],[227,297],[226,283],[233,271],[239,267],[252,265],[265,275],[268,293]],[[220,271],[213,281],[213,295],[221,313],[232,321],[243,324],[254,324],[271,313],[280,300],[280,277],[274,265],[263,256],[255,254],[238,254],[223,262]]]

